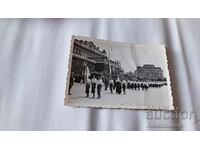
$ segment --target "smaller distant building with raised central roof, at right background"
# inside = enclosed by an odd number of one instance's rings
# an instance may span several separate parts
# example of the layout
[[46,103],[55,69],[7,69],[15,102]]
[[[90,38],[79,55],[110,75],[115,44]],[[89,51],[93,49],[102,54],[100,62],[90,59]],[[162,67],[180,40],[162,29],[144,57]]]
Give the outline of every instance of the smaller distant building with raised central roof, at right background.
[[163,70],[160,67],[154,65],[145,64],[142,67],[137,66],[134,73],[135,77],[140,80],[147,81],[164,81],[166,78],[163,76]]

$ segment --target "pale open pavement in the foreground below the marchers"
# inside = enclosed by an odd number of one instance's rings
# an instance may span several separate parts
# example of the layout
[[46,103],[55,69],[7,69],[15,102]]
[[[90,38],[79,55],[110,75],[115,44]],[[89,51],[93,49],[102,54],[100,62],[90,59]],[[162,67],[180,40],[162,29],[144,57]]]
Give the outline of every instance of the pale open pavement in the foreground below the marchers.
[[68,105],[71,106],[84,106],[84,107],[103,107],[103,108],[152,108],[158,109],[164,107],[168,109],[169,95],[167,86],[161,88],[149,88],[148,90],[129,90],[126,89],[126,94],[123,92],[117,94],[115,90],[110,93],[108,87],[107,91],[102,87],[101,98],[92,98],[90,93],[89,98],[86,98],[85,84],[74,83],[69,95]]

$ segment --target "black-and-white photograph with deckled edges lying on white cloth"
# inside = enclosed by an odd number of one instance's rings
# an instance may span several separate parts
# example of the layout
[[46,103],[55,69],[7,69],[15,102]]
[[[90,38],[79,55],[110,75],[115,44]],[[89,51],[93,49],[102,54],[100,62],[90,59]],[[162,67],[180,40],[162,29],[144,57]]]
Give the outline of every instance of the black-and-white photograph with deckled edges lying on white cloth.
[[73,36],[65,105],[173,110],[164,45]]

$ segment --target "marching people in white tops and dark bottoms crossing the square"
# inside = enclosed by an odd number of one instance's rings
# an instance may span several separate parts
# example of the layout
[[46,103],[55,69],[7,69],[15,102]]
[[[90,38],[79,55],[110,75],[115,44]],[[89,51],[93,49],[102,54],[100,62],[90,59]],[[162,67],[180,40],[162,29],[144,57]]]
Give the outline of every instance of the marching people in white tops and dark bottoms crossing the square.
[[[81,82],[82,84],[82,82]],[[120,79],[117,77],[116,79],[110,78],[103,78],[102,76],[90,76],[87,78],[85,83],[85,93],[86,97],[89,97],[90,92],[92,94],[92,98],[96,97],[101,98],[101,92],[103,86],[105,87],[105,91],[108,89],[110,93],[116,94],[126,94],[126,89],[130,90],[148,90],[149,88],[160,88],[164,85],[167,85],[166,82],[150,82],[150,81],[126,81],[125,79]],[[73,79],[70,78],[69,83],[69,95],[70,90],[73,85]]]

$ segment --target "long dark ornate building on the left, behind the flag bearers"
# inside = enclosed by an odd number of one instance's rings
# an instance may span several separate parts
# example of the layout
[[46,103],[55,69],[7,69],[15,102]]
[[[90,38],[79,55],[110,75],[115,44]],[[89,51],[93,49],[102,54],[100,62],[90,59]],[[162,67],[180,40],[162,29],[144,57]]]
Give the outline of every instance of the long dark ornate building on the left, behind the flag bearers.
[[74,40],[71,72],[76,82],[84,80],[87,69],[90,73],[123,73],[119,61],[110,60],[105,50],[100,50],[92,41]]

